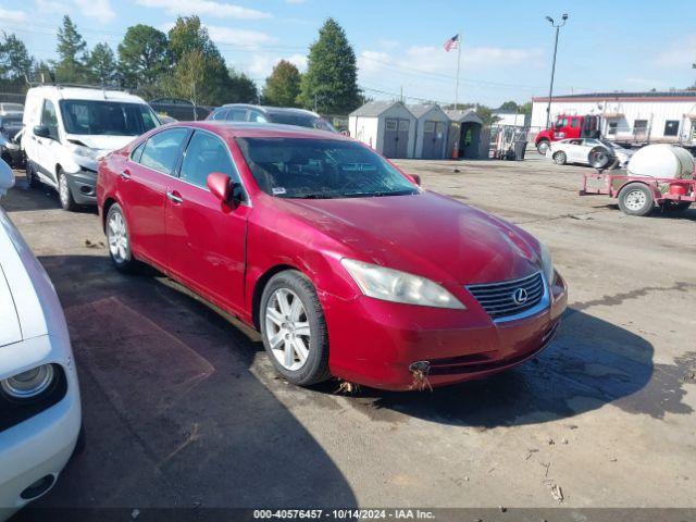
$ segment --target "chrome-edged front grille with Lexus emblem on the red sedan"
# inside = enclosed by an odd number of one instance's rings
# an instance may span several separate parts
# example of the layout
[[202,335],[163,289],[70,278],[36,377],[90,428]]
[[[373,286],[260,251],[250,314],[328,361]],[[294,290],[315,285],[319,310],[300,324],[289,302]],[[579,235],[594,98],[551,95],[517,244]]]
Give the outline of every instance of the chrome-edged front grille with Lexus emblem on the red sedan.
[[[521,279],[469,285],[467,289],[493,320],[504,320],[532,311],[540,306],[542,300],[546,297],[544,277],[540,272]],[[517,299],[515,293],[518,294]]]

